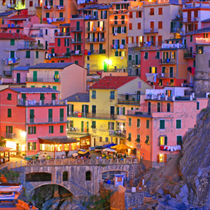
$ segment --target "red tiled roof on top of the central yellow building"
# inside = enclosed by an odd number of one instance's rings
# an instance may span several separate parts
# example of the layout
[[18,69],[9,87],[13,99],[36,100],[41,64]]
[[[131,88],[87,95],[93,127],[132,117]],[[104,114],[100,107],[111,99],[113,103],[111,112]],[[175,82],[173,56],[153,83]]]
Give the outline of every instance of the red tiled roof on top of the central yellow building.
[[94,83],[91,89],[118,89],[126,83],[136,79],[137,77],[125,77],[125,76],[106,76]]

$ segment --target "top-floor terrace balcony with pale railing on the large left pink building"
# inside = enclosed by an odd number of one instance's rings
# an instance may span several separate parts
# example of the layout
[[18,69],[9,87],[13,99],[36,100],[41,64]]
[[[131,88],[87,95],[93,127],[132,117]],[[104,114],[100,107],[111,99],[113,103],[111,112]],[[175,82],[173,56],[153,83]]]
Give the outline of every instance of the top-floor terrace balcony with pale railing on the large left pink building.
[[23,98],[18,99],[18,106],[66,106],[67,101],[60,100],[24,100]]

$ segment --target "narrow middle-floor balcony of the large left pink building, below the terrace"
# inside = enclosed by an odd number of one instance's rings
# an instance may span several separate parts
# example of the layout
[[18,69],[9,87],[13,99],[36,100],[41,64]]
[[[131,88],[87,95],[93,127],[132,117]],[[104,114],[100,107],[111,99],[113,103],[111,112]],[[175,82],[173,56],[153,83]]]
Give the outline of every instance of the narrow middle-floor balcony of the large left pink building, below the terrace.
[[67,123],[67,119],[64,117],[57,118],[27,118],[27,124],[56,124],[56,123]]

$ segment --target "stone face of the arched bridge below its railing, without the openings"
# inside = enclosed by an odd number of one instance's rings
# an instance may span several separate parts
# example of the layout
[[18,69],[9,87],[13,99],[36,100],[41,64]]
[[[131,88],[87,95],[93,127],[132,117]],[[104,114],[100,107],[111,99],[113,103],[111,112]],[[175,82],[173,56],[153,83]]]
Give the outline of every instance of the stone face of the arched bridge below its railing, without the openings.
[[[26,174],[47,172],[52,174],[51,182],[25,182],[28,192],[42,185],[57,184],[68,189],[74,196],[95,195],[99,192],[102,173],[106,171],[124,171],[127,179],[137,177],[139,164],[116,164],[104,166],[30,166],[26,167]],[[68,172],[68,181],[63,181],[63,172]],[[86,181],[86,172],[91,171],[91,180]]]

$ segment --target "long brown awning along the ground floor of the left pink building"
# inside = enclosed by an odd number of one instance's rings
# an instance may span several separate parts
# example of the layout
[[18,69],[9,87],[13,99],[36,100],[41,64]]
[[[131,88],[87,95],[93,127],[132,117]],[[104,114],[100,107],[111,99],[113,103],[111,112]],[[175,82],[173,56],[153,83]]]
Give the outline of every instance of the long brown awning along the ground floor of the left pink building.
[[38,138],[40,144],[68,144],[68,143],[77,143],[78,140],[74,138],[69,138],[67,136],[63,138]]

